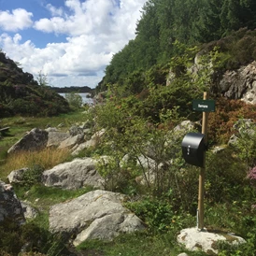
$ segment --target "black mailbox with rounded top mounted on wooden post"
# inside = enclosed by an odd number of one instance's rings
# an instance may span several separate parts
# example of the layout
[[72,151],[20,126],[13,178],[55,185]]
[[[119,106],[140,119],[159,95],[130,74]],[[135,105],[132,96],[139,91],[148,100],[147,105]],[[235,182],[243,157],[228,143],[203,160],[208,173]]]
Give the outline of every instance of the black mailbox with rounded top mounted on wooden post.
[[189,133],[184,136],[181,147],[182,155],[188,164],[204,167],[204,152],[206,150],[205,135]]

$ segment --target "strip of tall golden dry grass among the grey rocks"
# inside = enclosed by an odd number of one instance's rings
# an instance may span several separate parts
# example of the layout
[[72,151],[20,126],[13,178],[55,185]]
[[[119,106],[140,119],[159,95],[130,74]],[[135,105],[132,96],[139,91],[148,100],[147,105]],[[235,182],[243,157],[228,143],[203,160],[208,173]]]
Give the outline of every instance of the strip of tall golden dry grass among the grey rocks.
[[6,163],[0,166],[0,178],[7,178],[7,175],[13,170],[24,167],[31,168],[34,165],[39,165],[42,169],[47,170],[57,164],[64,163],[69,155],[68,149],[50,148],[10,154],[7,156]]

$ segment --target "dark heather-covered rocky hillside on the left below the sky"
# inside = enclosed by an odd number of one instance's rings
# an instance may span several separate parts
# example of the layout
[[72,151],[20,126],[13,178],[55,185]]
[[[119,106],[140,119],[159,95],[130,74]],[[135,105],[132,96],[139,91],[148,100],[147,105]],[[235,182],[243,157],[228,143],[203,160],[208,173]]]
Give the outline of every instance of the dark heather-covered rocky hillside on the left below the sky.
[[52,116],[69,111],[67,102],[47,86],[40,86],[32,74],[0,52],[0,118],[16,114]]

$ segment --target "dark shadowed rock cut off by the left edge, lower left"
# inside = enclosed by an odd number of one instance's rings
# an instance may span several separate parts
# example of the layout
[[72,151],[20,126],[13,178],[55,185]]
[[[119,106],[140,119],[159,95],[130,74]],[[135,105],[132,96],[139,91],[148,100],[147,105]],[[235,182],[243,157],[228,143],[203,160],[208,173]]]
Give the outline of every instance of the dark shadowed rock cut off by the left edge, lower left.
[[21,202],[13,192],[13,188],[0,180],[0,222],[4,220],[21,224],[24,223],[25,218]]

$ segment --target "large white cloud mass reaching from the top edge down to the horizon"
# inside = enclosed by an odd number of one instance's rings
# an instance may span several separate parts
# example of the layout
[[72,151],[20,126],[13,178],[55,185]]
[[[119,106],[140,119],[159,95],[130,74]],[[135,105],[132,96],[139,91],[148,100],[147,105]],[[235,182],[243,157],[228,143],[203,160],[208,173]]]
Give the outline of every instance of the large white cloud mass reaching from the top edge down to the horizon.
[[135,38],[136,22],[146,1],[66,0],[65,6],[58,8],[49,4],[47,9],[53,17],[36,21],[34,28],[64,35],[64,42],[49,43],[39,49],[33,38],[21,43],[21,33],[3,34],[0,46],[35,78],[42,71],[54,86],[95,87],[113,54]]

